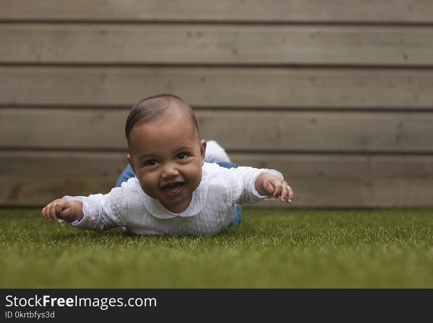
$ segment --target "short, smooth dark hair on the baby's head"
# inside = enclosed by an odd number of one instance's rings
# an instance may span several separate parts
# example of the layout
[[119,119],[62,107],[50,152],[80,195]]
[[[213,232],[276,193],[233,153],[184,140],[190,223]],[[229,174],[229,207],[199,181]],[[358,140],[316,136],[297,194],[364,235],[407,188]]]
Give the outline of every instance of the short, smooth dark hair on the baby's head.
[[129,112],[125,124],[125,135],[128,145],[129,134],[135,125],[156,120],[167,115],[169,112],[175,111],[175,109],[179,109],[186,113],[195,125],[198,133],[197,119],[195,118],[194,111],[184,100],[174,94],[158,94],[140,100]]

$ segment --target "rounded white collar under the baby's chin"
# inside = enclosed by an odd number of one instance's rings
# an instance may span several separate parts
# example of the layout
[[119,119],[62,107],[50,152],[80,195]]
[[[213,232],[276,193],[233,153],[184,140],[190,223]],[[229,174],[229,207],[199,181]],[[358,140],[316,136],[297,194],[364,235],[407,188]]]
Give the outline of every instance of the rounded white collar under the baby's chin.
[[187,216],[196,215],[198,212],[202,210],[203,206],[205,206],[206,197],[208,195],[209,174],[206,171],[206,168],[207,167],[202,167],[202,178],[201,178],[200,185],[198,185],[197,189],[192,192],[191,201],[189,202],[189,205],[185,211],[181,213],[173,213],[172,211],[168,210],[165,206],[163,206],[161,202],[147,195],[141,189],[140,184],[138,183],[138,187],[143,192],[144,195],[144,199],[143,199],[144,206],[147,208],[149,213],[151,213],[151,215],[159,219],[170,219],[177,216],[187,217]]

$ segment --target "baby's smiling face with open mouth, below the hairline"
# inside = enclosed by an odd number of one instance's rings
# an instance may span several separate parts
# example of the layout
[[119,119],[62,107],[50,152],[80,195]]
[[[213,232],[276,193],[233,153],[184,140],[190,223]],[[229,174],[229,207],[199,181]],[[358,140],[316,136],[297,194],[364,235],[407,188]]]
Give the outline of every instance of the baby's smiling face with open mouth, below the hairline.
[[189,117],[173,113],[134,126],[127,158],[143,191],[180,213],[201,182],[205,151],[206,141],[200,141]]

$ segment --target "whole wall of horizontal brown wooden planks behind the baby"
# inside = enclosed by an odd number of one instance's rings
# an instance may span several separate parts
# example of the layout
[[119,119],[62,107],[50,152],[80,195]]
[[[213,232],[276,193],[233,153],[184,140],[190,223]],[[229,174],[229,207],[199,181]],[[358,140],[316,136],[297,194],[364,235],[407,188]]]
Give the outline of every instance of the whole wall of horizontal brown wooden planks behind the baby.
[[0,206],[108,192],[163,92],[291,207],[433,206],[431,0],[0,0]]

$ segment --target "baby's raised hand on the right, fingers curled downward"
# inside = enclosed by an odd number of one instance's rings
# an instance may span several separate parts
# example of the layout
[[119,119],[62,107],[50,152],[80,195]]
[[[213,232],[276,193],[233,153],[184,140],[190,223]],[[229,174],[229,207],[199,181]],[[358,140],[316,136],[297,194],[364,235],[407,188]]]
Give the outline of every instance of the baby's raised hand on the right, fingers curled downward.
[[[257,183],[257,181],[259,181],[259,183]],[[281,202],[292,203],[294,197],[293,190],[284,179],[281,179],[277,176],[267,173],[267,174],[260,175],[257,178],[257,181],[256,181],[256,189],[257,188],[263,189],[263,191],[257,189],[257,191],[260,194],[273,196],[275,198],[281,196]]]

